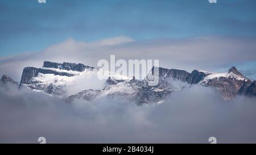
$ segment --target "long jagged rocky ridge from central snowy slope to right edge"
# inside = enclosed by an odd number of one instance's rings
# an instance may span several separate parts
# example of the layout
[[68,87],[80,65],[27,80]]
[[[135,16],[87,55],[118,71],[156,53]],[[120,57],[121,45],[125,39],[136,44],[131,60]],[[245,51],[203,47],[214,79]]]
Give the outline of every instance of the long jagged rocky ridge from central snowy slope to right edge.
[[[181,90],[192,84],[213,87],[213,89],[220,91],[223,98],[227,100],[238,94],[255,96],[255,81],[250,81],[234,67],[230,68],[227,73],[210,73],[199,70],[188,73],[178,69],[158,69],[159,83],[156,86],[149,86],[147,77],[142,81],[136,79],[118,81],[109,78],[106,81],[108,85],[103,90],[97,91],[93,99],[118,97],[133,100],[137,104],[159,103],[172,91]],[[152,68],[152,73],[154,73],[154,68]],[[83,98],[86,100],[92,99],[90,98],[92,95],[88,93],[77,94],[77,96],[80,95],[85,95]],[[72,97],[76,97],[76,95]]]

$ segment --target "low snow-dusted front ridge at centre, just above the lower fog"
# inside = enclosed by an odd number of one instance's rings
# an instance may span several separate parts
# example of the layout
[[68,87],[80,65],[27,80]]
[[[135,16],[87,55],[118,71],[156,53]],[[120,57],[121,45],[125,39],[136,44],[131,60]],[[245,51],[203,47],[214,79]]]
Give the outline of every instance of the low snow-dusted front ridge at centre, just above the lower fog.
[[103,90],[85,90],[67,98],[71,101],[75,98],[93,100],[98,98],[119,98],[131,100],[137,104],[158,103],[171,93],[171,91],[152,91],[145,81],[127,79],[118,83],[110,83]]

